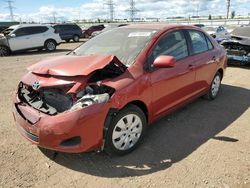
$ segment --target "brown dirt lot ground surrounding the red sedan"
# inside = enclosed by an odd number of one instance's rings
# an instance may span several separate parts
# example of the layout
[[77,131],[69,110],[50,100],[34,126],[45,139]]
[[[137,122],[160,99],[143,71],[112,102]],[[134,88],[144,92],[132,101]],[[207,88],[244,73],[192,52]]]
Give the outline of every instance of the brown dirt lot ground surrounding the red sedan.
[[0,187],[250,187],[250,69],[230,67],[215,101],[198,99],[150,127],[135,152],[44,152],[16,131],[12,94],[26,67],[47,56],[0,58]]

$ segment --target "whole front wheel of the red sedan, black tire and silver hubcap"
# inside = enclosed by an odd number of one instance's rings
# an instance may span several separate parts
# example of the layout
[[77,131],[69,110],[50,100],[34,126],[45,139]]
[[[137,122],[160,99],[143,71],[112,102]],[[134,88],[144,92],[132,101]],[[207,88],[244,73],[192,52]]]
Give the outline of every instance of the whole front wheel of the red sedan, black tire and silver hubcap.
[[110,155],[125,155],[132,152],[142,141],[147,128],[143,111],[129,105],[122,109],[108,127],[104,151]]

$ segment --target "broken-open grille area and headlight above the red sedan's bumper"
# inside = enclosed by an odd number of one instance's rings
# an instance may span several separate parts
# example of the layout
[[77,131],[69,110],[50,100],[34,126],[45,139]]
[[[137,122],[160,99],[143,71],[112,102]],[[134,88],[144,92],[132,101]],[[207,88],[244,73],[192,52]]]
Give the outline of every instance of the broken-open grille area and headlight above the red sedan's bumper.
[[19,99],[48,115],[65,111],[74,111],[93,104],[107,102],[114,89],[102,85],[88,85],[75,95],[67,94],[67,89],[41,88],[34,90],[31,86],[19,84]]

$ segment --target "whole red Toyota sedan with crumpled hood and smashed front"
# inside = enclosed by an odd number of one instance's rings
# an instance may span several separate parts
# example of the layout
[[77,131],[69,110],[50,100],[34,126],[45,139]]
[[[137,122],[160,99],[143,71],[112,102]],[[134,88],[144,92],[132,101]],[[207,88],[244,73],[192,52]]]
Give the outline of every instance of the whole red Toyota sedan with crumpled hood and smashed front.
[[116,28],[29,67],[14,97],[16,125],[40,147],[123,155],[160,117],[215,99],[225,68],[225,49],[200,28]]

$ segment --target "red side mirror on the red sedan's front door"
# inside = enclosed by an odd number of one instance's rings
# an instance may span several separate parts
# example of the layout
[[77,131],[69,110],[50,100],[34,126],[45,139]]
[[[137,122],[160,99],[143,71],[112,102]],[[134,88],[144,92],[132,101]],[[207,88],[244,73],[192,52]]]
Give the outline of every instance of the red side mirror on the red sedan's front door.
[[161,55],[153,63],[157,68],[172,68],[175,66],[176,59],[173,56]]

